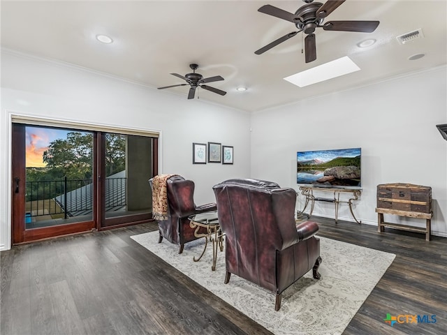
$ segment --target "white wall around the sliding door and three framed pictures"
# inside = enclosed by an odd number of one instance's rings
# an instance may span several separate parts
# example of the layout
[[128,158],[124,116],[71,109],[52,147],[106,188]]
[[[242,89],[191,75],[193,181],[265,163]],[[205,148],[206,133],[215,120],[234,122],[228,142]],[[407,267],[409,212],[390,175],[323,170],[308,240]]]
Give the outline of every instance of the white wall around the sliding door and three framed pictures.
[[[2,50],[0,250],[10,248],[12,113],[161,131],[160,173],[194,180],[197,204],[215,201],[219,181],[249,177],[249,113]],[[234,164],[192,164],[193,142],[233,146]]]

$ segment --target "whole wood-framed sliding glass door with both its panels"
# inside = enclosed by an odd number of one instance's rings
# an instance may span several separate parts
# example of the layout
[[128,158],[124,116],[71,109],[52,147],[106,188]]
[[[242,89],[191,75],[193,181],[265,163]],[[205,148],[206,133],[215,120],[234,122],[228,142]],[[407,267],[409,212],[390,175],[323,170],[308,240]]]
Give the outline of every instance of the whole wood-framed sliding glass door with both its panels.
[[13,124],[13,243],[148,221],[154,137]]

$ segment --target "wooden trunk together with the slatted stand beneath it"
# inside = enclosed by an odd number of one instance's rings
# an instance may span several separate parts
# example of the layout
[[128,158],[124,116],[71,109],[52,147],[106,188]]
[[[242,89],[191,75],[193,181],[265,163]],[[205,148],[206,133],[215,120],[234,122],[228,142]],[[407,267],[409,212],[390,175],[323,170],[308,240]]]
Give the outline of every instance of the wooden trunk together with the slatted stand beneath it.
[[[412,232],[422,232],[425,239],[430,241],[432,223],[432,188],[413,184],[381,184],[377,186],[378,231],[384,227]],[[383,221],[383,214],[406,216],[409,218],[425,219],[425,228],[387,223]]]

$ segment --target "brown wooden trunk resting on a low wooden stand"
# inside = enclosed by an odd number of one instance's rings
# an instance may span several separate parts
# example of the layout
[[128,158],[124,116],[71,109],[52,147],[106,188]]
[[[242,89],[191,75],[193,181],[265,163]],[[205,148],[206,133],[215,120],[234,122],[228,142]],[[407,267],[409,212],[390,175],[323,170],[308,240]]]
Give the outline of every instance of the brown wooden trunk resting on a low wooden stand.
[[399,183],[378,185],[377,208],[431,213],[432,188]]

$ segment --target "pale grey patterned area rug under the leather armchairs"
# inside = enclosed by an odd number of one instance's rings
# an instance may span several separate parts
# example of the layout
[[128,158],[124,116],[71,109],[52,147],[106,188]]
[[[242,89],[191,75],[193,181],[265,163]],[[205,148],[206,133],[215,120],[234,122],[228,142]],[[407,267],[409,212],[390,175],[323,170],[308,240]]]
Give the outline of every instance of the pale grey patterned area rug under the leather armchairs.
[[283,292],[281,309],[276,312],[273,292],[234,274],[228,284],[223,283],[225,251],[218,251],[216,271],[211,270],[210,244],[203,258],[193,262],[193,256],[197,258],[203,251],[204,239],[185,244],[183,253],[178,254],[175,244],[158,243],[159,232],[131,237],[274,334],[342,334],[395,255],[318,238],[323,258],[321,279],[312,278],[309,271]]

